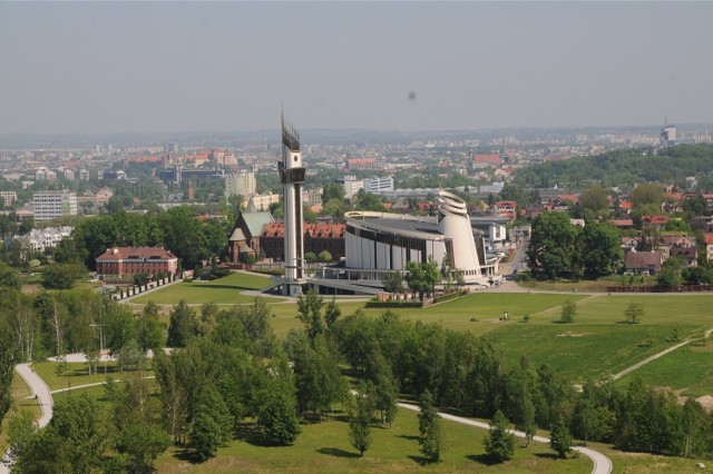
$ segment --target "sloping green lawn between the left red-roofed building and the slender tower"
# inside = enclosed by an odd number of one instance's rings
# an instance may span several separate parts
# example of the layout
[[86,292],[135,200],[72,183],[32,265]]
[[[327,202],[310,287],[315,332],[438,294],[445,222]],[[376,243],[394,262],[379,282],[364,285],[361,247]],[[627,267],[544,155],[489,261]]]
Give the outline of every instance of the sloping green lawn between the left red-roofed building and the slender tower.
[[[131,304],[145,305],[154,302],[157,305],[175,305],[185,299],[188,304],[216,303],[221,305],[250,304],[253,296],[241,295],[246,289],[261,289],[268,286],[270,277],[232,273],[231,275],[213,282],[179,282],[150,292],[146,295],[130,299]],[[265,296],[271,302],[281,302],[284,298]]]

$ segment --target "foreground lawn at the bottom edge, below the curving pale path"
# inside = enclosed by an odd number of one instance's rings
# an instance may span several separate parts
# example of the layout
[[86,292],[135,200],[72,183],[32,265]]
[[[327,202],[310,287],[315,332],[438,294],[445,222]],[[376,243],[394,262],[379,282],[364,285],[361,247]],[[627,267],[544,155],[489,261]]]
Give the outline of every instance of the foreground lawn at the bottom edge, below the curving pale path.
[[586,457],[555,460],[547,445],[533,443],[518,448],[512,461],[502,465],[489,465],[484,456],[485,429],[443,422],[447,447],[442,462],[423,464],[419,452],[417,414],[399,409],[393,427],[373,426],[373,442],[364,457],[349,443],[348,425],[343,419],[302,426],[302,434],[293,446],[262,446],[258,438],[245,436],[218,451],[217,457],[192,464],[179,450],[172,450],[159,457],[159,473],[191,471],[196,473],[383,473],[383,472],[547,472],[584,473],[592,470]]

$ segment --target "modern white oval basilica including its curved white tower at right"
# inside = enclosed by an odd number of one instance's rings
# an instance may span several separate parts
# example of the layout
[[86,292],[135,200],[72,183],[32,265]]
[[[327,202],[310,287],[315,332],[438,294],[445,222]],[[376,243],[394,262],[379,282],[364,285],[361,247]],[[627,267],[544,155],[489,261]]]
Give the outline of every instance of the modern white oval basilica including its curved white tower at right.
[[473,238],[466,203],[439,191],[438,216],[389,213],[346,213],[345,250],[348,269],[404,270],[409,261],[439,266],[449,261],[467,284],[488,285]]

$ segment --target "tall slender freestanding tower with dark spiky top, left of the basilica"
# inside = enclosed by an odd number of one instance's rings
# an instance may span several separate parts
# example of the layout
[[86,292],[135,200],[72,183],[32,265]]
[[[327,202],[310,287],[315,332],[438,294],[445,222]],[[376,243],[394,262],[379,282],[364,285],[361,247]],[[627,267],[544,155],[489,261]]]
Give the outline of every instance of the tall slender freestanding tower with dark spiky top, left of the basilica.
[[282,115],[282,161],[277,162],[283,186],[285,223],[285,283],[283,294],[299,295],[304,280],[304,245],[302,217],[302,185],[305,169],[302,166],[300,134]]

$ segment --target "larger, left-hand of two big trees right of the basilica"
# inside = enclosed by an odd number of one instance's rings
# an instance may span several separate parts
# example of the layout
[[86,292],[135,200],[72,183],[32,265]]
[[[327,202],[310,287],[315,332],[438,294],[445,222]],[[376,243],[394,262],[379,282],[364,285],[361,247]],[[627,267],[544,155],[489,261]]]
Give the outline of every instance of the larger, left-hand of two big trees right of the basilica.
[[537,216],[527,251],[533,273],[550,279],[577,276],[580,268],[577,246],[580,231],[565,213],[545,211]]

